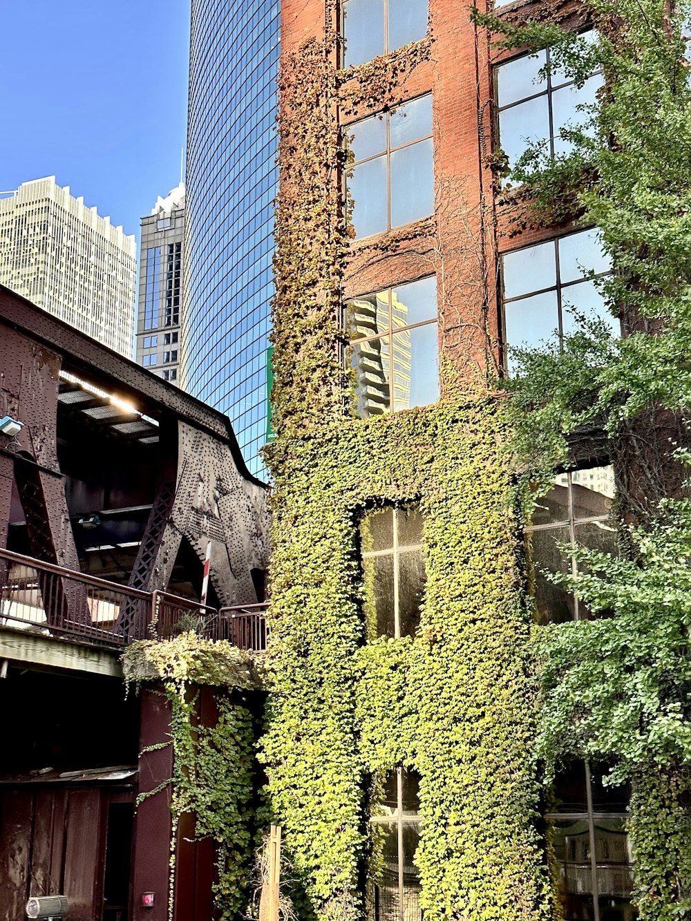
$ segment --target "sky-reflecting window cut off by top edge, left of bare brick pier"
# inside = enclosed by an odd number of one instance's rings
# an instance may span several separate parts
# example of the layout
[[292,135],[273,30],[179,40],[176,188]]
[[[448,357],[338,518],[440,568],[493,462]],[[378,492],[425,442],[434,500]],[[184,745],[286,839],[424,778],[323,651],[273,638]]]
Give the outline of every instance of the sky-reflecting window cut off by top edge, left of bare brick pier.
[[345,0],[344,66],[365,64],[427,35],[427,0]]

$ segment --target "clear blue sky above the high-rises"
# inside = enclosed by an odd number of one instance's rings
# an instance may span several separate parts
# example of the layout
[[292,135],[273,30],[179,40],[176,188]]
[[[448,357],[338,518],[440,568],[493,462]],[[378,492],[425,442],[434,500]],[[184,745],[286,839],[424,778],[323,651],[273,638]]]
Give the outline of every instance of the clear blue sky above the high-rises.
[[190,0],[0,0],[0,191],[55,176],[126,233],[180,181]]

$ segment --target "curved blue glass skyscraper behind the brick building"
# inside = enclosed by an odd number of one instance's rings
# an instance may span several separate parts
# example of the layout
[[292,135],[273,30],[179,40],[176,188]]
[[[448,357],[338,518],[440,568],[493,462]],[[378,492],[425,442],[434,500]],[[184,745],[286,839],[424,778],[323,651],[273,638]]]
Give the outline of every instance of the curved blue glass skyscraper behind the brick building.
[[262,475],[280,4],[193,0],[191,26],[182,387],[229,415]]

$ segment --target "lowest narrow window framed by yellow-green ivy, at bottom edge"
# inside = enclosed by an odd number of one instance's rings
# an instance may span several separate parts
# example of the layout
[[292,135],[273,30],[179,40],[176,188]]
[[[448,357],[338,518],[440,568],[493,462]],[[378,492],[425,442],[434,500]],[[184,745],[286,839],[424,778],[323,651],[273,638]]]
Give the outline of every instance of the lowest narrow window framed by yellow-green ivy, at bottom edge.
[[381,869],[370,904],[374,921],[420,921],[420,882],[415,854],[420,840],[419,775],[399,767],[384,780],[371,822],[381,833]]

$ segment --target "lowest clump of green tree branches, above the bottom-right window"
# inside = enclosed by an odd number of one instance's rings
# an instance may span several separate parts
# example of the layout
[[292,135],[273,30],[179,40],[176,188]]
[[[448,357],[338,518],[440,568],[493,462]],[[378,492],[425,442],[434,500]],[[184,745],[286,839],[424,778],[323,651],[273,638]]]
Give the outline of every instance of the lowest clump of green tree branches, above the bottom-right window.
[[587,572],[557,581],[606,619],[545,630],[548,762],[574,752],[615,757],[619,782],[650,765],[691,763],[691,529],[689,500],[669,502],[654,529],[630,528],[635,558],[577,548]]

